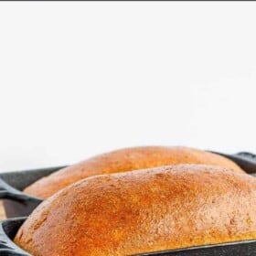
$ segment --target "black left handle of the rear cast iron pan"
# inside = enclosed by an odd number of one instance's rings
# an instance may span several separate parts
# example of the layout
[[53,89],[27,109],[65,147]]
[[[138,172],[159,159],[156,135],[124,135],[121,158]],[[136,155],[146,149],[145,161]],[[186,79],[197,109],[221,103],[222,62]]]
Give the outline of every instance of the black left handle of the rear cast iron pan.
[[0,178],[0,199],[12,199],[19,202],[26,202],[27,198],[25,194],[16,190],[14,187],[10,187]]

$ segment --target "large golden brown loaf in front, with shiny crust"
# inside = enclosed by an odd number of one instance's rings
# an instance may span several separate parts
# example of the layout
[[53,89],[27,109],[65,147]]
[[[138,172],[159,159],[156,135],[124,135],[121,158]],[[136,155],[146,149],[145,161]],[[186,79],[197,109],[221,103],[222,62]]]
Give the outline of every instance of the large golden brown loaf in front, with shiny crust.
[[210,165],[162,166],[59,191],[15,241],[35,256],[90,256],[255,239],[255,207],[255,177]]

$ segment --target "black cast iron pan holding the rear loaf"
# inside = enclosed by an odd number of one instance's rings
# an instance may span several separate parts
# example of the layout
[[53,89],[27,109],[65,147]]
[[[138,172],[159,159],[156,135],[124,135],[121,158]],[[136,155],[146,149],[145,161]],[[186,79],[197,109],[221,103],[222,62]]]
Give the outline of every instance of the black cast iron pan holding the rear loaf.
[[[214,153],[228,157],[247,173],[256,175],[256,155],[246,152],[234,155]],[[6,217],[28,216],[42,202],[42,199],[29,196],[21,191],[37,179],[48,176],[63,167],[65,166],[0,174],[0,198],[4,199]]]

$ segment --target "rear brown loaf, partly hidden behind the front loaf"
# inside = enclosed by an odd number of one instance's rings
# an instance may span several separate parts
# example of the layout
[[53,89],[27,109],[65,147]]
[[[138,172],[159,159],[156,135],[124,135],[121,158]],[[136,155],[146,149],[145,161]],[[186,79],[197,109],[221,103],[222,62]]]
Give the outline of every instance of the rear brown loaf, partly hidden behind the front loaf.
[[241,171],[240,167],[229,159],[197,149],[180,146],[133,147],[98,155],[77,165],[61,169],[39,179],[27,187],[25,192],[35,197],[47,198],[61,188],[88,176],[176,164],[219,165]]

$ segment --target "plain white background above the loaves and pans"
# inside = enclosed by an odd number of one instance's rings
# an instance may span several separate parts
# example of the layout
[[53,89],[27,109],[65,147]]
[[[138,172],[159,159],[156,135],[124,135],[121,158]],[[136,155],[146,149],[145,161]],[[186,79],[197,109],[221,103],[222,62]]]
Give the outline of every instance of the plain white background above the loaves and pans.
[[183,144],[256,153],[255,3],[1,3],[0,171]]

